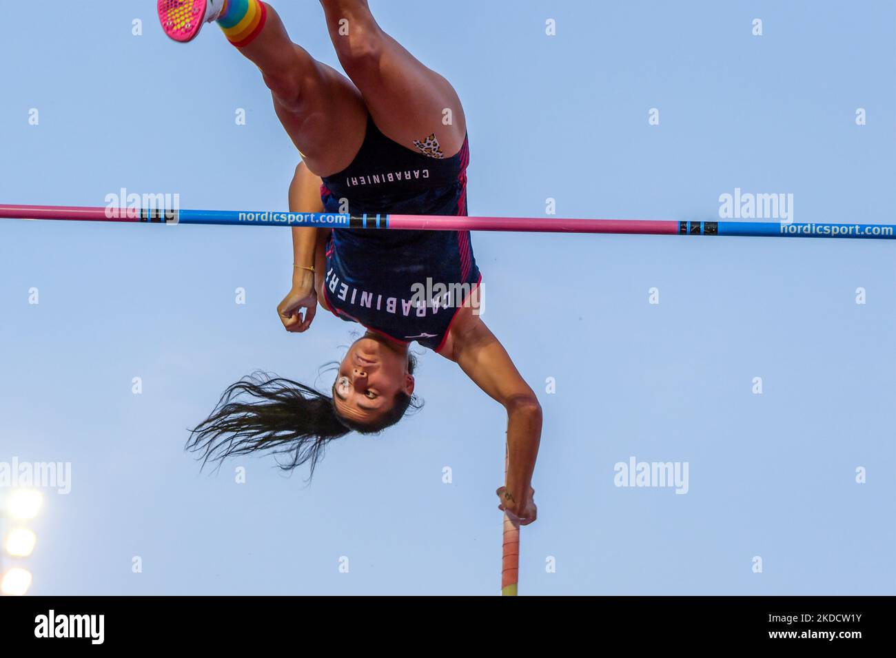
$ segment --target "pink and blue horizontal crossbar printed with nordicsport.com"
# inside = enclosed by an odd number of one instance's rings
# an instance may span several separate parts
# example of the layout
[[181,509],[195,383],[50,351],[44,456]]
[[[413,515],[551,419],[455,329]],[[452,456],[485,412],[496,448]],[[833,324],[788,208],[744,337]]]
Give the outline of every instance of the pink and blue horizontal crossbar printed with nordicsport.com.
[[732,235],[741,237],[833,237],[896,239],[892,224],[815,224],[658,219],[561,219],[454,217],[433,215],[350,215],[271,210],[108,209],[72,206],[0,205],[0,218],[216,226],[314,226],[424,231],[517,231],[522,233],[605,233],[628,235]]

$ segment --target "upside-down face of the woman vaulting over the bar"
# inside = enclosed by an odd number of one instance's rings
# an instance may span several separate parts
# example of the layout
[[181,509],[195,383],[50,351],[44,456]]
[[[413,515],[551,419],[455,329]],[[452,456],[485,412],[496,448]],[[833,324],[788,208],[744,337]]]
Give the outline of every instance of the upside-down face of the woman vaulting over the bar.
[[333,404],[349,420],[372,423],[392,409],[399,391],[414,392],[407,351],[367,334],[352,344],[340,363]]

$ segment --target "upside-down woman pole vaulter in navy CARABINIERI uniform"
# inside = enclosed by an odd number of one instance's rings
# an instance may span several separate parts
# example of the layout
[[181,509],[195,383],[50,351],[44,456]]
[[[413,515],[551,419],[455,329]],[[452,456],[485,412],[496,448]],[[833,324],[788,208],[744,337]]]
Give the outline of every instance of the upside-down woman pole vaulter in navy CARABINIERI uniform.
[[[292,43],[269,4],[158,0],[168,37],[190,41],[217,22],[261,70],[303,160],[290,210],[465,216],[469,146],[452,85],[386,34],[366,0],[321,4],[348,77]],[[289,457],[284,468],[309,463],[314,473],[329,441],[382,432],[418,406],[409,354],[417,341],[504,406],[509,452],[499,508],[521,525],[534,521],[541,407],[476,312],[480,275],[469,232],[294,227],[292,236],[292,288],[278,307],[284,328],[306,331],[320,303],[366,333],[342,359],[331,395],[255,373],[228,387],[188,447],[205,460],[270,450]],[[421,286],[426,296],[415,298]]]

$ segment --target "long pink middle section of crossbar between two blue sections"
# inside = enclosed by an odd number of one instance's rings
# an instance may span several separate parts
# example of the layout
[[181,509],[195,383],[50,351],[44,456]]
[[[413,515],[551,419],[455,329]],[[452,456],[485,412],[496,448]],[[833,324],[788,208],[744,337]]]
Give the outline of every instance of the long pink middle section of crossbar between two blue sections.
[[538,231],[541,233],[632,233],[677,235],[677,221],[655,219],[561,219],[532,217],[452,217],[390,215],[390,228],[425,231],[450,224],[455,231]]

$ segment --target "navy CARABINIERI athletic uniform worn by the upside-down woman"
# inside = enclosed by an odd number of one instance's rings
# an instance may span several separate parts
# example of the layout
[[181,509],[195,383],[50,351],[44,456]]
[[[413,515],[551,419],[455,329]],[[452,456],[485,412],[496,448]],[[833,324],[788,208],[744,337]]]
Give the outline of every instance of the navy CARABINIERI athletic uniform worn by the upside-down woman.
[[[323,178],[323,206],[352,215],[466,215],[469,161],[466,139],[452,158],[430,158],[390,140],[371,117],[349,167]],[[401,343],[441,349],[479,279],[469,231],[334,228],[326,244],[332,312]]]

